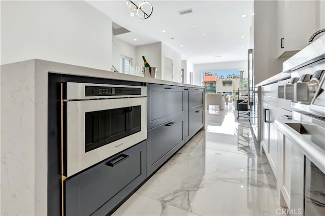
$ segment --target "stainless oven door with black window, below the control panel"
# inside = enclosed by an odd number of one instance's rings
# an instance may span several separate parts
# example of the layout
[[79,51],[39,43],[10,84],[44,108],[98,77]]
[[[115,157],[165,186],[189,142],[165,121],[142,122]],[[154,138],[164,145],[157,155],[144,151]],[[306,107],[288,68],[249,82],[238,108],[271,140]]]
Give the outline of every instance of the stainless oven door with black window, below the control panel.
[[147,138],[147,98],[67,102],[67,177]]

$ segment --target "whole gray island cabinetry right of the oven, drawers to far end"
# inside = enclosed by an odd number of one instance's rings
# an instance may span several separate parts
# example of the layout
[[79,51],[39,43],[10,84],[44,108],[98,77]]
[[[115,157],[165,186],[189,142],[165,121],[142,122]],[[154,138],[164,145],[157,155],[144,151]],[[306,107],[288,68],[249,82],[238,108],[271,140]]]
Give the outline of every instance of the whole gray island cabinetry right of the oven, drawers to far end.
[[163,165],[202,127],[204,90],[147,84],[147,176]]

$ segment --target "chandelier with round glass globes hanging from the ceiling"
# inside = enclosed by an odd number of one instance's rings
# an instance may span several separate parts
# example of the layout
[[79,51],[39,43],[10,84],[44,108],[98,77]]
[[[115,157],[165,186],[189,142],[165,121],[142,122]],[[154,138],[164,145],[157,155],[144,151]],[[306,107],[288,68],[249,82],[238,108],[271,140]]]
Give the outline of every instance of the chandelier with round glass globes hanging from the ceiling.
[[135,4],[130,0],[124,0],[130,16],[137,15],[140,19],[148,19],[152,14],[152,5],[149,2],[140,2]]

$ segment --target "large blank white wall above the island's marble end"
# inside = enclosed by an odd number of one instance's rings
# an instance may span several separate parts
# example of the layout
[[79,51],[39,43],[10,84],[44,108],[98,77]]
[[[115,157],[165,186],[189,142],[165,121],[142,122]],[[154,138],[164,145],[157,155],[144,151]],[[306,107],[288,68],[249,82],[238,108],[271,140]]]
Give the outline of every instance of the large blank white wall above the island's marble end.
[[84,1],[1,1],[1,64],[32,58],[110,70],[112,20]]

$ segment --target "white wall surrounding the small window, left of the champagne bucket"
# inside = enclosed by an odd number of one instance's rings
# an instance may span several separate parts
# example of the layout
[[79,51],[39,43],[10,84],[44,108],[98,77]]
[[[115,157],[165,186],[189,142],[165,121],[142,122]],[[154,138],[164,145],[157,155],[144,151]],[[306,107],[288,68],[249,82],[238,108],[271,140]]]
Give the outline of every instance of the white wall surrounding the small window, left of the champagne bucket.
[[[126,56],[132,59],[131,65],[136,64],[136,47],[129,44],[116,36],[113,36],[113,50],[112,50],[112,62],[115,68],[122,72],[121,70],[121,56]],[[140,65],[139,65],[140,66]]]

